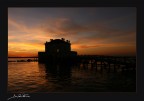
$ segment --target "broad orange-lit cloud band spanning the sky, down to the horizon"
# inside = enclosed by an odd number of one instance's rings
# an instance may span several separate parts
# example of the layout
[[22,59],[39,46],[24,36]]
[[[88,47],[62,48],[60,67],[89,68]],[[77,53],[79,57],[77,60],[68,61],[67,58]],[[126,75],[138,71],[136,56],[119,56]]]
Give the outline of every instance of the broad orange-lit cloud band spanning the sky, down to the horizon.
[[38,25],[29,28],[26,24],[9,17],[8,48],[9,52],[13,53],[9,54],[35,53],[36,55],[38,51],[44,50],[45,41],[62,37],[70,39],[72,49],[81,54],[104,54],[106,49],[111,50],[114,47],[121,47],[121,53],[124,53],[122,51],[126,50],[126,47],[133,47],[132,49],[135,50],[135,29],[124,30],[107,24],[107,22],[80,24],[68,18],[55,18],[44,19]]

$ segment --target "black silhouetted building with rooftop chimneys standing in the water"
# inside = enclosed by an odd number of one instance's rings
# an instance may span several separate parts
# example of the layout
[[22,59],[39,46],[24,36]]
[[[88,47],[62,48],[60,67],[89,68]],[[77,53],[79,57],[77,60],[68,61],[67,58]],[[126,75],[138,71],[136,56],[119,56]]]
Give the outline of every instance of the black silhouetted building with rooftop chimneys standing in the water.
[[71,51],[71,43],[69,40],[50,39],[45,43],[45,52],[38,52],[39,62],[66,62],[74,59],[77,52]]

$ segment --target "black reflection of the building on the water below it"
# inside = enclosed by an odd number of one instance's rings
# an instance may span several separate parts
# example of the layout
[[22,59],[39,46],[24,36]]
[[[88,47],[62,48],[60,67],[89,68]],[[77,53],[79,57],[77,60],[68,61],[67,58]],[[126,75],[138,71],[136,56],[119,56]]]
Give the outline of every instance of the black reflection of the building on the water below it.
[[46,78],[59,85],[71,83],[71,67],[64,64],[45,64]]

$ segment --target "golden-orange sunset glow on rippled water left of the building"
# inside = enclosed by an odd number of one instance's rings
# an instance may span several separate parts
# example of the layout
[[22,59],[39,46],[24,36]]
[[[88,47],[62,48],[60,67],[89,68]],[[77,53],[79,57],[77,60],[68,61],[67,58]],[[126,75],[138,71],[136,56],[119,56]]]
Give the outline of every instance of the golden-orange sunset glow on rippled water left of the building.
[[37,62],[11,62],[8,67],[8,91],[34,92],[43,86],[47,80],[44,78],[44,68],[38,68]]

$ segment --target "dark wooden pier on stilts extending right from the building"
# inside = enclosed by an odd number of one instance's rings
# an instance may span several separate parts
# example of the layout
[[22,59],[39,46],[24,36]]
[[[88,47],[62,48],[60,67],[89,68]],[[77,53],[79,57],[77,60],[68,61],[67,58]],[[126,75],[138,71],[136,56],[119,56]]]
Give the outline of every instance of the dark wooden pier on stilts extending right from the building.
[[81,64],[84,68],[100,67],[101,70],[135,70],[136,57],[118,57],[118,56],[97,56],[97,55],[79,55],[77,63]]

